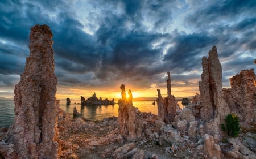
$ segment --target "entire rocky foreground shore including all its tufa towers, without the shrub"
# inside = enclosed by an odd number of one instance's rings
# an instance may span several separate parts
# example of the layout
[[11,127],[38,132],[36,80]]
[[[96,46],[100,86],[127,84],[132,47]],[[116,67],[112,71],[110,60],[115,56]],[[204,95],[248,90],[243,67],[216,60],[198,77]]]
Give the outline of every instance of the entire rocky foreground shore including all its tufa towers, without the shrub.
[[[118,117],[90,121],[59,108],[52,43],[47,25],[31,28],[14,123],[0,129],[0,158],[256,158],[256,75],[242,70],[230,78],[230,89],[222,88],[216,46],[202,59],[200,94],[185,108],[171,94],[167,72],[167,97],[157,90],[158,115],[135,108],[122,84]],[[221,130],[228,114],[240,119],[237,137]]]

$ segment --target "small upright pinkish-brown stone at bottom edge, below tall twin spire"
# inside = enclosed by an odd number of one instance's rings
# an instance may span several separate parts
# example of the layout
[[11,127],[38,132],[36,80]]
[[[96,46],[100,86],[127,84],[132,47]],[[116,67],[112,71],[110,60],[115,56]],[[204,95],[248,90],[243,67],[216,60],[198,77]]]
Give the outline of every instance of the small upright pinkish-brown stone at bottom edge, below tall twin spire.
[[213,136],[205,134],[204,136],[204,151],[208,154],[209,158],[216,157],[217,159],[221,158],[221,149],[220,145],[214,143]]

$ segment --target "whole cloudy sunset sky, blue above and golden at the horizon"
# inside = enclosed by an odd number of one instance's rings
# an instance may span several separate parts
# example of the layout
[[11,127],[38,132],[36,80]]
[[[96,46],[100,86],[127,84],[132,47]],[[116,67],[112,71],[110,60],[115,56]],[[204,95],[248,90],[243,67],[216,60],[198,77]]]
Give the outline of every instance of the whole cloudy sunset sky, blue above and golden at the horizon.
[[256,1],[1,0],[0,98],[13,98],[24,70],[30,28],[53,32],[57,98],[199,93],[201,59],[216,45],[223,87],[256,68]]

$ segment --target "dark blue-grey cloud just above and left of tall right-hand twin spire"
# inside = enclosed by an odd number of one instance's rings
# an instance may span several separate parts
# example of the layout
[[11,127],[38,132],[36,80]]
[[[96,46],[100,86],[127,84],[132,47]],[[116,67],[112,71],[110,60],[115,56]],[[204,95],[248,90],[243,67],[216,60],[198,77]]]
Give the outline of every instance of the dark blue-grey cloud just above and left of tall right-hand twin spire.
[[[170,63],[170,68],[179,68],[180,72],[199,68],[201,52],[215,44],[217,37],[207,33],[179,34],[172,39],[174,46],[164,55],[164,61]],[[205,54],[206,55],[206,54]]]

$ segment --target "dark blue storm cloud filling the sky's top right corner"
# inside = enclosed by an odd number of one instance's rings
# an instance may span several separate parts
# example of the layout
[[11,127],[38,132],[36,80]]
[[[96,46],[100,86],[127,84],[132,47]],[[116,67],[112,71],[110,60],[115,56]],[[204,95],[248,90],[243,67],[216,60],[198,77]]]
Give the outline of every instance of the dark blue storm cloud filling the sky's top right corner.
[[226,20],[229,22],[230,20],[234,20],[234,18],[240,18],[241,13],[254,16],[252,13],[256,10],[255,1],[205,1],[202,4],[197,10],[187,16],[189,24],[196,25],[200,28],[214,23],[223,23]]

